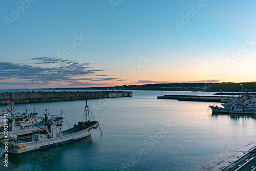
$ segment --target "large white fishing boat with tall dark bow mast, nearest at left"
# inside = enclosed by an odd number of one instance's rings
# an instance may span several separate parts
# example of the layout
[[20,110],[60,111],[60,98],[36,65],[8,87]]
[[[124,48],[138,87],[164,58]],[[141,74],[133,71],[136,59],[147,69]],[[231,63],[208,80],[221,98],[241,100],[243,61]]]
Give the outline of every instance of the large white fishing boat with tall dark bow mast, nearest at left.
[[[79,121],[77,125],[74,125],[74,127],[63,131],[63,122],[65,119],[48,121],[48,115],[45,114],[45,124],[44,126],[40,126],[41,130],[33,132],[30,136],[10,136],[9,140],[11,139],[11,141],[8,142],[8,153],[20,155],[86,138],[91,135],[93,129],[97,129],[99,127],[99,123],[95,121],[92,113],[89,114],[87,100],[83,118],[84,116],[86,117],[85,121]],[[93,121],[90,121],[90,116]],[[4,145],[2,144],[2,147],[3,146]]]

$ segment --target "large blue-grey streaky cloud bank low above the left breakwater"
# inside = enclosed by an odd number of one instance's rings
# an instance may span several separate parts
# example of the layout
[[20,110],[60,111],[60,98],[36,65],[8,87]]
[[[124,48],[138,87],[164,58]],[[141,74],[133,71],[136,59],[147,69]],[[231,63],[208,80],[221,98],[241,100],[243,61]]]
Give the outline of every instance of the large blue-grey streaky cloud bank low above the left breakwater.
[[[0,62],[0,68],[0,80],[4,81],[1,82],[2,85],[39,86],[65,83],[72,86],[91,86],[101,84],[86,82],[93,81],[89,76],[107,76],[99,74],[104,69],[95,70],[90,63],[54,57],[37,57],[19,63]],[[98,78],[99,81],[112,79],[117,78]]]

